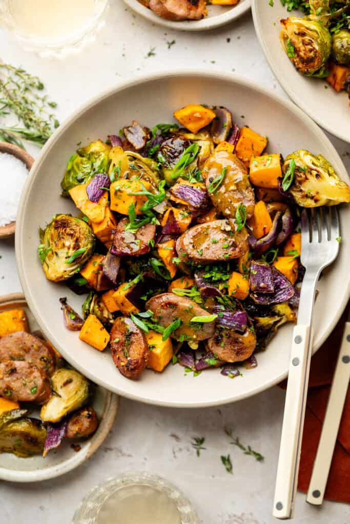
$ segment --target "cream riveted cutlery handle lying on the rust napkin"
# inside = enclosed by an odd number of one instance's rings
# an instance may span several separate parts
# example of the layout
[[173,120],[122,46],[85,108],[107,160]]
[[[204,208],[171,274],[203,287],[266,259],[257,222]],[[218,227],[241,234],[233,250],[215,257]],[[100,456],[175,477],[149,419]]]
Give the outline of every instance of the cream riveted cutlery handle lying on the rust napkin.
[[350,379],[350,322],[346,322],[306,500],[321,505]]

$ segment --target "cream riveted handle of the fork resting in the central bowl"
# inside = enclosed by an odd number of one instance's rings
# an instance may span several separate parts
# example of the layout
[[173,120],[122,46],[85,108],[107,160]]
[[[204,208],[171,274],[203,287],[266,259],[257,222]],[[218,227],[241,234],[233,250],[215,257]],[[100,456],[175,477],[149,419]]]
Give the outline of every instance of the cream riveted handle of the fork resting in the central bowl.
[[293,330],[291,360],[285,396],[280,455],[273,503],[273,516],[293,518],[296,484],[309,383],[312,336],[309,325]]

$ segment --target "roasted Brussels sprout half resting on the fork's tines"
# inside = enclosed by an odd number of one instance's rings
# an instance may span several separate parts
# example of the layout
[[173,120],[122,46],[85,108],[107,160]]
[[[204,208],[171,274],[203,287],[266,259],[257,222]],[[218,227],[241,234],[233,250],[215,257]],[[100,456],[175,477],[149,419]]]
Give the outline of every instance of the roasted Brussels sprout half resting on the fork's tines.
[[350,202],[350,188],[322,155],[299,149],[285,158],[282,171],[294,176],[289,191],[303,208]]

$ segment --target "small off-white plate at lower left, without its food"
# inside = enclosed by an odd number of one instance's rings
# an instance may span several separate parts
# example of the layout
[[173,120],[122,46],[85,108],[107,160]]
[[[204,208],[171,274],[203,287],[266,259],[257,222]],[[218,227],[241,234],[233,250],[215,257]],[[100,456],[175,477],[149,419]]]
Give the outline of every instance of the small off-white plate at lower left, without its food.
[[[25,310],[30,331],[39,330],[34,316],[31,314],[23,293],[13,293],[0,297],[0,311],[12,308]],[[93,397],[93,408],[98,414],[99,427],[93,436],[85,441],[65,440],[56,450],[51,450],[45,457],[35,455],[22,459],[12,453],[0,454],[0,479],[10,482],[39,482],[49,478],[59,477],[74,470],[89,459],[98,450],[110,432],[119,406],[119,397],[113,395],[101,386],[96,386]],[[38,413],[32,413],[34,417]],[[71,443],[79,444],[80,450],[75,451]]]

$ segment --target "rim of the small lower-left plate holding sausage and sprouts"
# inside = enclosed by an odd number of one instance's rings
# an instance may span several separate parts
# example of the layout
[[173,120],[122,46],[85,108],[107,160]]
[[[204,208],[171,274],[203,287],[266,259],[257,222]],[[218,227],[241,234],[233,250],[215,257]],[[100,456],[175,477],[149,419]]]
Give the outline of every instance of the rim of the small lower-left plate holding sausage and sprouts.
[[[0,296],[0,306],[8,305],[10,307],[11,304],[26,305],[31,311],[24,293],[17,292]],[[34,315],[34,313],[32,314]],[[99,449],[101,444],[107,438],[107,435],[113,427],[120,405],[120,397],[118,395],[114,394],[106,388],[103,389],[106,390],[106,397],[101,422],[97,431],[92,435],[91,439],[89,439],[87,446],[83,450],[81,450],[79,453],[72,454],[69,459],[59,462],[58,464],[47,467],[44,466],[38,470],[10,470],[7,467],[0,467],[0,479],[7,482],[26,483],[47,481],[50,478],[56,478],[74,470],[87,459],[90,459],[90,457]]]

